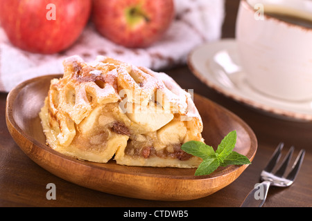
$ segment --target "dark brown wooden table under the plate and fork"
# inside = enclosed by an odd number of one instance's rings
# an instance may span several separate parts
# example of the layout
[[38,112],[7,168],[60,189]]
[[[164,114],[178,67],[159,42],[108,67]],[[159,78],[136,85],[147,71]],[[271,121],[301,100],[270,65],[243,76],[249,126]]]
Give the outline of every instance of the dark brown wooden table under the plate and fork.
[[[223,37],[234,37],[239,0],[227,0]],[[271,117],[233,101],[202,84],[187,66],[166,70],[182,88],[195,92],[229,109],[257,135],[258,151],[252,165],[229,186],[206,198],[186,202],[159,202],[123,198],[72,184],[52,175],[31,161],[8,133],[5,120],[6,93],[0,93],[0,206],[239,206],[259,182],[259,174],[279,142],[288,149],[306,149],[297,180],[286,189],[272,187],[263,206],[312,206],[312,123],[291,122]],[[284,152],[283,152],[284,153]],[[56,186],[56,200],[46,199],[46,184]]]

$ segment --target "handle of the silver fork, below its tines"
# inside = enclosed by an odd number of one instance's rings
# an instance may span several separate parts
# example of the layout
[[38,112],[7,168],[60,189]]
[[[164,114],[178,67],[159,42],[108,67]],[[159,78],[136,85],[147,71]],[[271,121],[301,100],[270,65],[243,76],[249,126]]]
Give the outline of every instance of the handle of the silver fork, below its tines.
[[269,181],[263,181],[254,185],[254,189],[248,193],[241,207],[261,207],[266,201],[270,184]]

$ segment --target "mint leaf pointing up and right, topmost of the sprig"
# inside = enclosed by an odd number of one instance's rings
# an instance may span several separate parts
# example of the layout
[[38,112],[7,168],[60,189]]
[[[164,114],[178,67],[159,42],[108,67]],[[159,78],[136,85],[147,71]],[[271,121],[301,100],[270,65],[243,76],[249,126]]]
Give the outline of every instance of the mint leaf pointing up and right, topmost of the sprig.
[[221,143],[218,145],[218,148],[216,150],[216,154],[218,156],[218,160],[220,162],[223,162],[227,155],[229,155],[236,144],[236,131],[229,132],[221,141]]

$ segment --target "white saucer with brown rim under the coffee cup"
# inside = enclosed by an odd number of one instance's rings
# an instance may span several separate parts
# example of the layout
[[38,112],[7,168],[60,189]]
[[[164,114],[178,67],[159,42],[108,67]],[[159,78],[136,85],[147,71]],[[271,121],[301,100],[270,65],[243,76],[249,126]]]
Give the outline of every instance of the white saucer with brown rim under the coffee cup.
[[189,68],[207,86],[275,117],[312,122],[312,100],[290,102],[263,95],[248,84],[235,39],[204,44],[189,54]]

